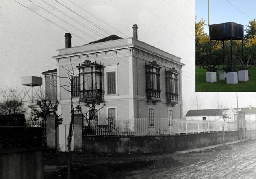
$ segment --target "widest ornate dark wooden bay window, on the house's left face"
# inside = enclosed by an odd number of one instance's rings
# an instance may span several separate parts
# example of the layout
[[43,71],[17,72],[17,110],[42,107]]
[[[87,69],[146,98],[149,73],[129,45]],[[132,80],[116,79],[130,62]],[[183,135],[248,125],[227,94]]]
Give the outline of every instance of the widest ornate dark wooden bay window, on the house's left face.
[[85,60],[77,68],[80,77],[80,101],[100,103],[102,101],[102,65]]

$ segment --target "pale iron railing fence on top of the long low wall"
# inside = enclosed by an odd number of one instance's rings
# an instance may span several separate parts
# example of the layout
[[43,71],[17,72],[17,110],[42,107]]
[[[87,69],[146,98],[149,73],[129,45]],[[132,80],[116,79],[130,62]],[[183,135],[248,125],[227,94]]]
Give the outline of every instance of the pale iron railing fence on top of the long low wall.
[[[237,122],[171,120],[169,118],[132,118],[84,121],[83,136],[106,135],[178,135],[187,133],[210,133],[237,131]],[[255,129],[255,122],[246,122],[246,126]],[[247,128],[249,129],[249,127]]]

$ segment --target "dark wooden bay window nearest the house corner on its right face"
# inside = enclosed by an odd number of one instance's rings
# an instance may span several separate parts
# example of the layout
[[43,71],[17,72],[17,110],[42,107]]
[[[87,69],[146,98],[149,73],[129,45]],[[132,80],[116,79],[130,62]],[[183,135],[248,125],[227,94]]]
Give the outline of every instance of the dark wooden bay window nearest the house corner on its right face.
[[153,61],[146,64],[146,94],[148,101],[161,101],[160,99],[160,69],[161,67]]

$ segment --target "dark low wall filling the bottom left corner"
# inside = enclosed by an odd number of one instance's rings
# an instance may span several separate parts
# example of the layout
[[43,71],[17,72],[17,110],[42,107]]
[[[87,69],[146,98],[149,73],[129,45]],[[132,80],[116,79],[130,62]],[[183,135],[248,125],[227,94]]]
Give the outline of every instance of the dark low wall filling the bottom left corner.
[[43,179],[43,128],[0,126],[0,178]]

